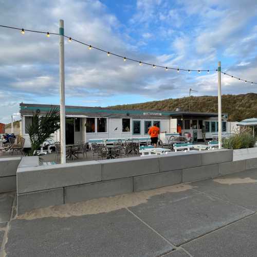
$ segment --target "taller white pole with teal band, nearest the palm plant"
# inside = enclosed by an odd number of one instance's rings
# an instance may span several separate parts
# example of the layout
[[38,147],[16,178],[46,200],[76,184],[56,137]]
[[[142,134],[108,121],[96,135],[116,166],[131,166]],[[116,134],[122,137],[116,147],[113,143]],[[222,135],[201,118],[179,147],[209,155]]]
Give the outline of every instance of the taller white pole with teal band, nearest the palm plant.
[[61,134],[61,163],[66,163],[65,140],[65,84],[64,84],[64,22],[59,22],[60,34],[60,134]]

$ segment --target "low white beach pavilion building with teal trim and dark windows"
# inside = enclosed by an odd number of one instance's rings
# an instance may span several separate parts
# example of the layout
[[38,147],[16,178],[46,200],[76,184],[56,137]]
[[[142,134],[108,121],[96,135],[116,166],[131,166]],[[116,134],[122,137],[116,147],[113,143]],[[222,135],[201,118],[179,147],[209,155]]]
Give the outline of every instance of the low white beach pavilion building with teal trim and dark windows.
[[[26,127],[32,122],[33,113],[45,115],[51,107],[59,105],[20,104],[22,118],[22,135],[26,139],[25,147],[30,147]],[[217,113],[200,113],[184,111],[149,111],[124,110],[102,107],[66,106],[66,143],[92,139],[125,139],[147,138],[149,127],[157,123],[160,127],[162,140],[177,133],[177,125],[181,126],[182,135],[189,132],[194,141],[201,140],[201,128],[206,127],[206,138],[217,137]],[[223,134],[233,133],[235,123],[227,121],[227,114],[223,114]],[[60,131],[53,135],[54,141],[60,141]]]

